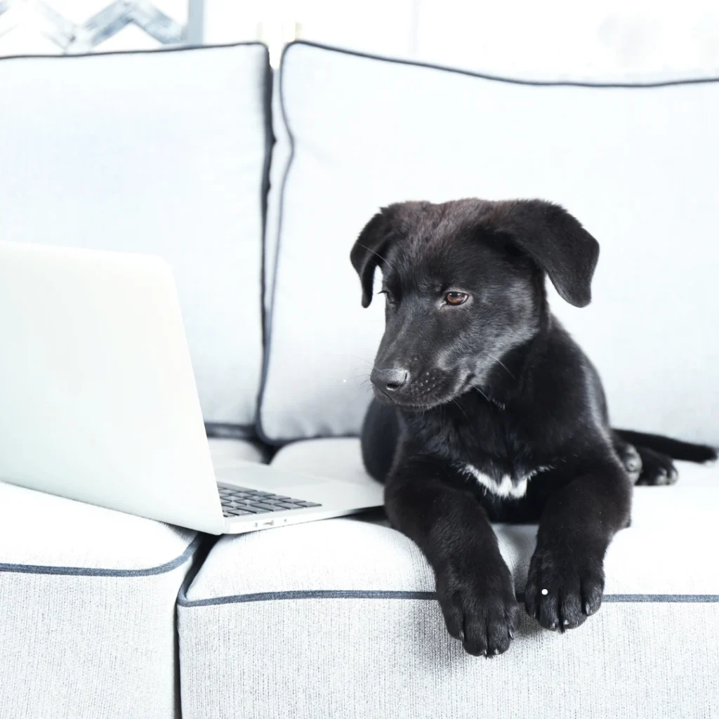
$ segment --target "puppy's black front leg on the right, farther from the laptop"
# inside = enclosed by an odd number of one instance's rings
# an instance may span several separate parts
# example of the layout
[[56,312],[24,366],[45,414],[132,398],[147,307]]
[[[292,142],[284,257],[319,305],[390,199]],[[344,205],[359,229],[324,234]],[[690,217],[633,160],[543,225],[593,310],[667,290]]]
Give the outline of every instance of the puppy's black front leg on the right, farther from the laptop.
[[600,608],[604,554],[628,525],[631,491],[623,467],[607,461],[547,500],[525,590],[527,613],[544,628],[580,626]]

